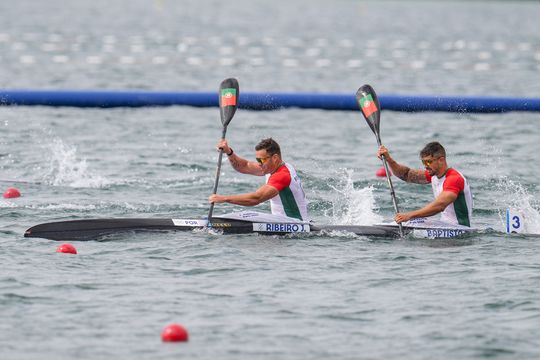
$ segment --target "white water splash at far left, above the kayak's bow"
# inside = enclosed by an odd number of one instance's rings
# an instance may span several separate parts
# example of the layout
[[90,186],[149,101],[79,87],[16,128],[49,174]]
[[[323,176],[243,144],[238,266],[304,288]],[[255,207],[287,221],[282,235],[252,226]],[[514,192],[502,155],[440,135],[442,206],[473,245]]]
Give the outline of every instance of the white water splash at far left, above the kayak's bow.
[[85,159],[77,158],[77,148],[64,144],[60,139],[50,144],[50,169],[45,176],[54,186],[99,188],[108,185],[108,181],[92,174]]

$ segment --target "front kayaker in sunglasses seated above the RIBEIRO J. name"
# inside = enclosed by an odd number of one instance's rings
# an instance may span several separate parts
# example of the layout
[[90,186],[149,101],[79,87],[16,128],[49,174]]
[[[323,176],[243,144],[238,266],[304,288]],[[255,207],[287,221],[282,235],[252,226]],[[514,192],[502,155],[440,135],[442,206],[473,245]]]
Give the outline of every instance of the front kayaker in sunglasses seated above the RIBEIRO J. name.
[[309,221],[307,201],[300,178],[294,168],[283,161],[278,143],[272,139],[263,139],[255,146],[255,160],[248,161],[238,156],[225,139],[217,148],[223,150],[232,167],[243,174],[266,176],[266,184],[254,192],[239,195],[210,195],[210,203],[223,203],[255,206],[270,200],[272,214],[284,215]]

